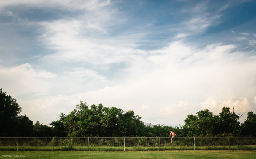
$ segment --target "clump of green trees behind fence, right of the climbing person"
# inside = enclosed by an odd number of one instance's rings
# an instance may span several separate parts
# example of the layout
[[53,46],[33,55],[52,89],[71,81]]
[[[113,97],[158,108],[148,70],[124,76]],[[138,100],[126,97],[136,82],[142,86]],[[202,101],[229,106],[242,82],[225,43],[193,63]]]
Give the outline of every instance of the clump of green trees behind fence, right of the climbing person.
[[208,110],[201,110],[197,115],[187,115],[184,120],[183,134],[186,136],[239,136],[239,115],[230,112],[229,107],[223,107],[219,115],[213,115]]

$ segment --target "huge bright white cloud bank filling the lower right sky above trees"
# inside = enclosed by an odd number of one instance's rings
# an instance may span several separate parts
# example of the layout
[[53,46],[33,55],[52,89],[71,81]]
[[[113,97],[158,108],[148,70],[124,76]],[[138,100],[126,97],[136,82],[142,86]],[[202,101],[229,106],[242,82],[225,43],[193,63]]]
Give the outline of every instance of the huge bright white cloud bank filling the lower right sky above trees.
[[[129,79],[125,84],[73,94],[70,98],[130,108],[153,124],[170,125],[169,115],[179,115],[185,107],[188,111],[180,118],[177,116],[177,123],[173,124],[182,124],[186,115],[205,108],[215,114],[219,114],[222,107],[233,105],[241,111],[254,110],[255,58],[245,52],[233,52],[235,47],[211,44],[196,50],[176,41],[164,49],[149,51],[151,56],[146,59],[137,57],[127,69]],[[143,68],[138,63],[148,63],[151,68]],[[184,98],[186,100],[179,100]],[[177,99],[179,104],[175,104]]]

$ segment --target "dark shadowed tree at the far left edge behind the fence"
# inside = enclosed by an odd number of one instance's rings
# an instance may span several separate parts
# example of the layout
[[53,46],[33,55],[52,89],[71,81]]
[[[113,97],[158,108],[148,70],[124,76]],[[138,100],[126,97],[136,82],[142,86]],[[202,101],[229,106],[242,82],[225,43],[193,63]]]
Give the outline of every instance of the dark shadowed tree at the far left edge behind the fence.
[[0,136],[26,137],[33,131],[33,122],[26,115],[19,115],[21,107],[16,99],[0,88]]

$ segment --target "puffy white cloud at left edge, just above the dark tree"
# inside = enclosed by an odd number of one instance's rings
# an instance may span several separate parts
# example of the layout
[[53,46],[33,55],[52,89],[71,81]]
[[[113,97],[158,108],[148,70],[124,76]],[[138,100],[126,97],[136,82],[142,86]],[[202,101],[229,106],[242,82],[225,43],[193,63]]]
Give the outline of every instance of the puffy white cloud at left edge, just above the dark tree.
[[0,74],[3,90],[14,96],[47,93],[52,84],[45,79],[57,77],[45,70],[36,70],[29,63],[11,68],[0,67]]

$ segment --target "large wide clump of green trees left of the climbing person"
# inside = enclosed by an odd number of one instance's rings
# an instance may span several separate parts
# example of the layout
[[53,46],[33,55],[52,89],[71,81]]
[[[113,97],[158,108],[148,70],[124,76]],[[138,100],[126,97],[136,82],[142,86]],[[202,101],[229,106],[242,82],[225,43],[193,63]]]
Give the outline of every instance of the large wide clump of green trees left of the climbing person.
[[134,111],[124,112],[116,107],[103,107],[102,104],[89,107],[82,101],[69,115],[63,115],[60,115],[63,117],[61,121],[54,121],[51,125],[55,130],[65,130],[67,136],[136,136],[145,127]]

